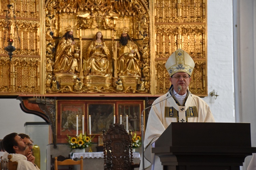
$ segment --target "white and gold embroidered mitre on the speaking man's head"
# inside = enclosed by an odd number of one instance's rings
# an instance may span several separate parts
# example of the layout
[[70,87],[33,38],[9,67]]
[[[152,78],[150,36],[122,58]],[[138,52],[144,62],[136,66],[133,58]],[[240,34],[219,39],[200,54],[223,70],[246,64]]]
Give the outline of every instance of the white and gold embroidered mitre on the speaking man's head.
[[179,48],[170,55],[165,67],[170,77],[177,72],[185,72],[191,76],[195,63],[188,53]]

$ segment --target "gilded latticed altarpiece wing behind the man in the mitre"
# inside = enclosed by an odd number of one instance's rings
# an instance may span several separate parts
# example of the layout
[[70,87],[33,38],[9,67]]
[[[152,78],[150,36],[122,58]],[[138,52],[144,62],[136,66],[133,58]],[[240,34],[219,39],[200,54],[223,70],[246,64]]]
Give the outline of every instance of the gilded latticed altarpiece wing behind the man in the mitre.
[[195,61],[189,90],[207,96],[207,25],[206,0],[154,0],[154,75],[155,94],[170,87],[165,63],[178,48]]

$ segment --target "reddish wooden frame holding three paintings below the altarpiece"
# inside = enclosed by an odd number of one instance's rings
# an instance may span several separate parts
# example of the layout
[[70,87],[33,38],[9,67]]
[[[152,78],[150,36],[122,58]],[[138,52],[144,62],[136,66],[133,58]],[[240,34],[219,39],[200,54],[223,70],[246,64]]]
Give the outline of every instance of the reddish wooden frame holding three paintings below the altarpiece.
[[[79,116],[79,133],[82,133],[82,116],[84,115],[84,132],[86,135],[89,134],[89,115],[91,115],[91,136],[95,135],[93,139],[95,143],[98,142],[98,136],[102,135],[102,130],[107,131],[109,125],[114,123],[114,119],[115,123],[120,123],[120,115],[122,114],[125,128],[126,115],[128,115],[128,130],[140,135],[140,114],[144,107],[145,100],[58,100],[56,109],[57,143],[66,143],[67,135],[76,135],[76,115]],[[101,126],[99,126],[100,123]]]

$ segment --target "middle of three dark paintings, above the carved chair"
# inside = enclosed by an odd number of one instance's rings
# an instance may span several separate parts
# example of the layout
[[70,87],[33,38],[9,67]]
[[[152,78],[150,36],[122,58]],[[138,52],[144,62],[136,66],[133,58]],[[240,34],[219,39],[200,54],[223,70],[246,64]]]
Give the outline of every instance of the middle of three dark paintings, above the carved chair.
[[[102,130],[107,131],[109,125],[114,123],[115,104],[88,104],[88,115],[91,116],[91,124],[88,123],[88,130],[91,134],[102,134]],[[91,125],[91,127],[89,127]],[[90,132],[88,132],[90,133]]]

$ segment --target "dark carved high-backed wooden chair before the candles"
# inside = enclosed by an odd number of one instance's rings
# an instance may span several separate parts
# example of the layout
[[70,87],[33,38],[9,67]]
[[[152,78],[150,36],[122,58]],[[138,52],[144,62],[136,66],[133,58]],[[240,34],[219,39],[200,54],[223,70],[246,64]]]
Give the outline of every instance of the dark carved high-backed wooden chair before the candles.
[[133,170],[139,164],[133,163],[132,135],[123,124],[109,125],[109,130],[103,130],[103,153],[105,170]]

